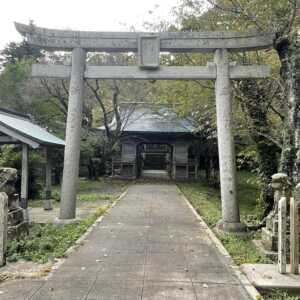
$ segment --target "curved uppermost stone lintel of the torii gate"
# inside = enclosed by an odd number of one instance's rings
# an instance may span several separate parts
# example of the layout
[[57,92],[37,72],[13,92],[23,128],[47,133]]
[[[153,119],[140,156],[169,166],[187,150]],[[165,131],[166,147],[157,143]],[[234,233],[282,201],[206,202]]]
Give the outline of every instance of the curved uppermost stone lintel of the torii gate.
[[270,48],[273,34],[237,32],[97,32],[57,30],[15,23],[30,44],[47,50],[84,48],[87,51],[138,51],[141,37],[156,38],[160,51],[213,52],[216,49],[251,51]]

